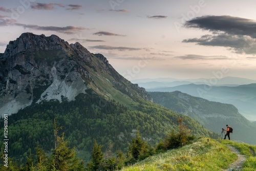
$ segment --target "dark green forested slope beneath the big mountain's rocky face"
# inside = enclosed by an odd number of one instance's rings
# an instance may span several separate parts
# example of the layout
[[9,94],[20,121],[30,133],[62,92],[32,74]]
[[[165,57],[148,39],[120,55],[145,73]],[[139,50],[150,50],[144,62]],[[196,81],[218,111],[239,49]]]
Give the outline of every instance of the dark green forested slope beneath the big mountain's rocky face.
[[[84,151],[91,151],[94,139],[103,145],[103,149],[112,141],[114,149],[125,151],[136,128],[149,144],[154,145],[166,132],[177,130],[179,117],[184,118],[184,123],[196,137],[217,137],[190,117],[160,105],[144,101],[135,108],[137,110],[131,110],[114,100],[106,101],[92,91],[79,94],[71,102],[52,100],[29,106],[9,116],[9,155],[35,153],[37,144],[50,151],[54,145],[54,118],[59,126],[63,126],[69,145]],[[3,136],[2,132],[0,134]]]

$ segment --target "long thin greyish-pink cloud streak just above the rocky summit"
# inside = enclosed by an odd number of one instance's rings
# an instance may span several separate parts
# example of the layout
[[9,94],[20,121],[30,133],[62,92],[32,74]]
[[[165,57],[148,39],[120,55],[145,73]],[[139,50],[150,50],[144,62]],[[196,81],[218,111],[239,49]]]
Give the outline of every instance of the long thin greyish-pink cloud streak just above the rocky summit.
[[56,31],[59,33],[65,34],[74,34],[81,30],[85,30],[86,28],[83,27],[75,27],[75,26],[66,26],[66,27],[55,27],[55,26],[37,26],[37,25],[25,25],[25,24],[15,24],[16,26],[22,26],[25,29],[34,29],[34,30],[46,30],[46,31]]

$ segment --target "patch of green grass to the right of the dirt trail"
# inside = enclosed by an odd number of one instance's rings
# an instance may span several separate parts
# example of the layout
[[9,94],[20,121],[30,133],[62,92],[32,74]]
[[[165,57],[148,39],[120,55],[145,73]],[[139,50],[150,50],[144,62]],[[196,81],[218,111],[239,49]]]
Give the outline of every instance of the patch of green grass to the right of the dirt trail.
[[236,147],[241,154],[245,155],[247,159],[243,164],[243,171],[256,170],[256,145],[246,144],[238,141],[221,141],[222,144]]

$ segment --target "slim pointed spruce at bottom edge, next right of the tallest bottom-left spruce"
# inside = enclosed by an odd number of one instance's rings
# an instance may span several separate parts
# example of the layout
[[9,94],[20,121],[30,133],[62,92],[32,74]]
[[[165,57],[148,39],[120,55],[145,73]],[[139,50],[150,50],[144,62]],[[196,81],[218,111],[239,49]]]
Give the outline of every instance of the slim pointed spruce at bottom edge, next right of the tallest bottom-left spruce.
[[96,140],[93,143],[93,154],[91,161],[87,164],[89,170],[98,170],[103,160],[101,152],[102,145],[98,145]]

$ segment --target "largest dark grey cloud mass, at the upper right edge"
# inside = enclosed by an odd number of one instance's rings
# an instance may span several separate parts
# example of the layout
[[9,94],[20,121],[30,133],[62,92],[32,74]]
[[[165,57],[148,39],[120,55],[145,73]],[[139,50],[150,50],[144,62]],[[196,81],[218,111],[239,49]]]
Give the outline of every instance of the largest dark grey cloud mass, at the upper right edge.
[[235,53],[256,54],[255,20],[229,15],[202,16],[188,20],[184,27],[208,30],[212,34],[184,39],[182,42],[226,47]]

